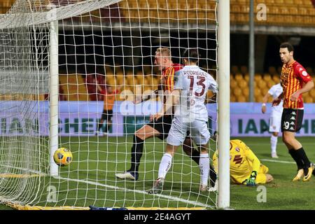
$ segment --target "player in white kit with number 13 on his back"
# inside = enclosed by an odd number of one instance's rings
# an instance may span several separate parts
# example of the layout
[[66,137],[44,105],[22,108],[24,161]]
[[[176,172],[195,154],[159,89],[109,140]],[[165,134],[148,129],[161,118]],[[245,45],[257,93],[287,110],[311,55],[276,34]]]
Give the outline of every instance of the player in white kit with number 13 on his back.
[[216,80],[197,66],[198,57],[198,50],[195,48],[187,49],[183,53],[185,66],[174,76],[174,90],[167,99],[166,107],[163,107],[154,116],[154,119],[158,119],[168,111],[172,111],[172,106],[176,105],[174,119],[167,137],[166,151],[160,162],[158,179],[148,193],[160,193],[162,190],[165,176],[172,165],[174,153],[183,144],[188,130],[200,149],[200,190],[208,189],[210,133],[207,127],[208,112],[204,99],[207,96],[207,90],[217,92],[218,88]]

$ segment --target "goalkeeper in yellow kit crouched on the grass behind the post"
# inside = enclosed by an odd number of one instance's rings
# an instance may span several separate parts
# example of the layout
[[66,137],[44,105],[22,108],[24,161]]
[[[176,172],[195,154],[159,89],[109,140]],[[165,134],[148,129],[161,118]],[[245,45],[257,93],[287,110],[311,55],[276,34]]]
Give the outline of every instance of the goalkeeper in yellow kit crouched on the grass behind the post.
[[[216,140],[216,132],[214,133]],[[218,173],[218,151],[214,153],[213,165]],[[255,186],[260,183],[270,183],[273,177],[267,174],[268,167],[262,165],[257,156],[243,141],[230,141],[230,177],[233,183]]]

